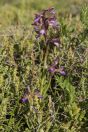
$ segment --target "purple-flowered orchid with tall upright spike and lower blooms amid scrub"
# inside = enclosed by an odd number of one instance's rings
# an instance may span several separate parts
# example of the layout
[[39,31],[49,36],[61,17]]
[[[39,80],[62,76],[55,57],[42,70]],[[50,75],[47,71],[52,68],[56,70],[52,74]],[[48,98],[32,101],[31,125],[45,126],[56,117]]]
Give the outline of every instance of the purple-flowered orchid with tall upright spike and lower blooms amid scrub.
[[[60,44],[61,44],[60,37],[59,37],[60,25],[57,22],[54,8],[49,8],[49,9],[41,11],[38,14],[35,14],[34,22],[32,23],[32,25],[35,32],[36,43],[38,42],[38,40],[40,40],[39,42],[41,44],[41,40],[43,38],[42,45],[45,46],[41,48],[41,54],[40,54],[40,59],[43,56],[42,63],[44,62],[43,70],[41,70],[42,71],[41,78],[47,78],[48,74],[50,74],[48,76],[48,79],[49,79],[48,86],[47,86],[47,90],[48,90],[48,88],[50,88],[52,76],[54,76],[56,73],[59,73],[60,75],[63,75],[63,76],[66,75],[66,72],[64,71],[64,67],[59,66],[58,55],[54,57],[53,61],[50,60],[51,64],[48,65],[49,55],[54,53],[54,48],[57,48],[59,50]],[[46,72],[46,69],[47,69],[47,72]],[[41,97],[42,97],[41,91],[43,95],[44,95],[44,91],[47,92],[47,90],[43,89],[42,85],[43,84],[41,83],[40,90],[37,89],[37,94],[41,95]],[[35,90],[33,92],[34,95],[36,93]],[[21,99],[23,103],[27,102],[29,97],[28,92],[26,96],[25,94],[23,98]],[[38,98],[40,98],[40,96]]]

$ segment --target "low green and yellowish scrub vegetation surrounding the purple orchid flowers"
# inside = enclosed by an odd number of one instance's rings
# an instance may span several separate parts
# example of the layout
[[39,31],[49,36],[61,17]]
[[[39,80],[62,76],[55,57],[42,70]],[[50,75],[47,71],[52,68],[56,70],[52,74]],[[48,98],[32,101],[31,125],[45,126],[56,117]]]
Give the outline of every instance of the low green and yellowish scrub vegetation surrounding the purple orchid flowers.
[[[54,51],[50,59],[59,54],[67,76],[55,75],[49,86],[48,75],[41,77],[41,65],[34,61],[41,51],[34,42],[31,23],[35,13],[52,6],[61,25],[62,50]],[[87,0],[0,1],[1,132],[87,132],[87,78]],[[31,90],[38,87],[44,99],[20,103],[27,86]]]

